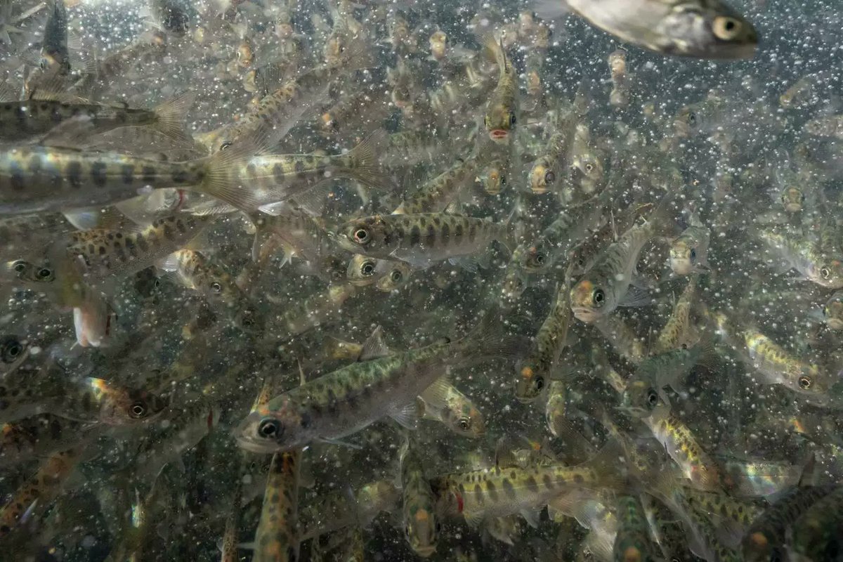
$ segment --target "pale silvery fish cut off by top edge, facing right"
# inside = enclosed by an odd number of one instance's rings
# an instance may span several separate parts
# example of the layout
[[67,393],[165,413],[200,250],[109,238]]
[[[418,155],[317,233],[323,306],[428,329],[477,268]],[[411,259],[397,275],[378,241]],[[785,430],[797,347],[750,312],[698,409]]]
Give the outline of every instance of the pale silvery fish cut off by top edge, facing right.
[[573,12],[594,27],[663,55],[752,58],[758,33],[720,0],[541,0],[545,18]]

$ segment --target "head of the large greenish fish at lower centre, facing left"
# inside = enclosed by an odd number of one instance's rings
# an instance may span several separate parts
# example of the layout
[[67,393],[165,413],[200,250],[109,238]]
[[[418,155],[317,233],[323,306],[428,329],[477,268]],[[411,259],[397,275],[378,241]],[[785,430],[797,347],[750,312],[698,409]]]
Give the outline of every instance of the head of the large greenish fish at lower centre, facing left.
[[240,422],[234,435],[246,451],[285,451],[308,441],[303,431],[310,426],[309,419],[285,398],[278,408],[255,409]]

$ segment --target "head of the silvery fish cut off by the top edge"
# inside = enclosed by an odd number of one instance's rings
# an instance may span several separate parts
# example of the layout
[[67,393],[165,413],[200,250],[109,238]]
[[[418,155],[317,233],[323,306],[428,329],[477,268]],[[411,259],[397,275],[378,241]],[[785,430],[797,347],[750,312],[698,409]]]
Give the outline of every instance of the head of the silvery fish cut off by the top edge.
[[715,0],[701,9],[676,3],[652,30],[659,38],[656,51],[713,59],[752,58],[758,32],[739,13]]

